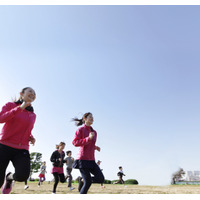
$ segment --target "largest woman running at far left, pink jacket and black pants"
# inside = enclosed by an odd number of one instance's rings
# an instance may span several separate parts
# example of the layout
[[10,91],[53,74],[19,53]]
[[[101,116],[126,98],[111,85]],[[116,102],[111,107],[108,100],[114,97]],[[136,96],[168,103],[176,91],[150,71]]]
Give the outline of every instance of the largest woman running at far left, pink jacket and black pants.
[[[36,119],[31,103],[35,98],[35,91],[26,87],[20,92],[18,101],[8,102],[0,112],[0,123],[4,123],[0,133],[0,187],[3,194],[11,192],[13,180],[24,182],[30,175],[29,142],[35,144],[31,131]],[[5,178],[10,161],[15,173],[9,172]]]

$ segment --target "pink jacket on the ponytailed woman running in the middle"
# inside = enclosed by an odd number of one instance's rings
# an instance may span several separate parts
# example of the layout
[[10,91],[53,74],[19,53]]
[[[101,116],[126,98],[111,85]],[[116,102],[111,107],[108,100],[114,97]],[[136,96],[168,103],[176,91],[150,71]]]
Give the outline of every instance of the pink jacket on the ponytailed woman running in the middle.
[[[95,134],[92,140],[89,140],[90,132]],[[91,131],[90,126],[84,125],[76,131],[72,144],[80,147],[77,160],[95,160],[96,139],[97,132],[95,130]]]

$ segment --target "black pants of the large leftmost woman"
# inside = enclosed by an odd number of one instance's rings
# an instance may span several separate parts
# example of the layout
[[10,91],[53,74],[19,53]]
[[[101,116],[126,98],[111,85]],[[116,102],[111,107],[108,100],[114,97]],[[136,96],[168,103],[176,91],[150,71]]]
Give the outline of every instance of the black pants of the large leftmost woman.
[[0,144],[0,187],[4,183],[6,168],[10,161],[15,168],[13,175],[15,181],[24,182],[30,175],[29,151]]

